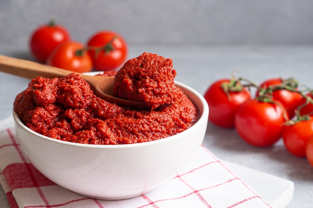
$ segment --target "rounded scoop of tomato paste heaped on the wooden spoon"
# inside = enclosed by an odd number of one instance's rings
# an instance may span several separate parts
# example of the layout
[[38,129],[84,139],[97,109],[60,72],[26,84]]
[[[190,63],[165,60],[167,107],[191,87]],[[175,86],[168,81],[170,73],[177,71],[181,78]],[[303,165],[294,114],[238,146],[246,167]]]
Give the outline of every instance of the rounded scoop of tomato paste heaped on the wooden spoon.
[[143,53],[128,60],[118,71],[113,95],[131,101],[144,102],[151,109],[176,103],[182,90],[175,86],[176,70],[171,58]]

